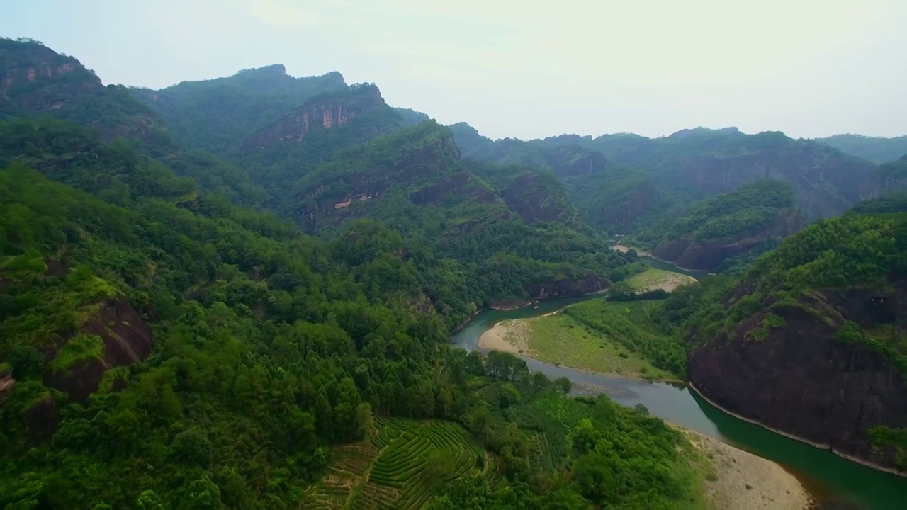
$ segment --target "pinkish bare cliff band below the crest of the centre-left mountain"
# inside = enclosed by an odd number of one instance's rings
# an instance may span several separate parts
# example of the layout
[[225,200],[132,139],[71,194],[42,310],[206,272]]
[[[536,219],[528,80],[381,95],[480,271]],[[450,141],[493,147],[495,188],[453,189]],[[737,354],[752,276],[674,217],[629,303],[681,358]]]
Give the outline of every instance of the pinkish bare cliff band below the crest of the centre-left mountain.
[[299,142],[317,127],[330,129],[343,125],[356,115],[384,104],[375,85],[353,85],[345,93],[309,101],[296,112],[249,136],[244,145],[260,149],[278,142]]

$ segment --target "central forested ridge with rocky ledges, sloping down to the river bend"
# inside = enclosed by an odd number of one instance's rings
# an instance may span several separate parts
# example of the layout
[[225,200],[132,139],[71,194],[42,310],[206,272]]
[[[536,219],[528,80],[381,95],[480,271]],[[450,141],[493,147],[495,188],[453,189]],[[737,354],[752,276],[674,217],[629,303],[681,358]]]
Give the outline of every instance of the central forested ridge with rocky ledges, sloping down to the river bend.
[[[551,191],[534,187],[534,173],[521,181],[521,172],[470,166],[451,132],[420,123],[339,152],[307,173],[293,188],[293,217],[313,232],[355,218],[383,221],[414,250],[456,260],[471,275],[469,285],[495,306],[607,287],[624,262],[611,259],[604,239],[584,228],[562,194],[560,202],[532,209],[559,191],[556,183]],[[521,185],[541,195],[521,194]]]

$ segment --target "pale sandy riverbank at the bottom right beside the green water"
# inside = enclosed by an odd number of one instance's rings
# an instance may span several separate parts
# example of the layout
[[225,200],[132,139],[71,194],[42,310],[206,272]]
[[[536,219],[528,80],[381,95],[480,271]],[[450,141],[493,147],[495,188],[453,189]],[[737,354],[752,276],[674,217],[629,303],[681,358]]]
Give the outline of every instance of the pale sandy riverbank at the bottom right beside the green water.
[[715,510],[805,510],[812,499],[803,484],[774,462],[712,437],[681,429],[712,462],[716,479],[706,498]]

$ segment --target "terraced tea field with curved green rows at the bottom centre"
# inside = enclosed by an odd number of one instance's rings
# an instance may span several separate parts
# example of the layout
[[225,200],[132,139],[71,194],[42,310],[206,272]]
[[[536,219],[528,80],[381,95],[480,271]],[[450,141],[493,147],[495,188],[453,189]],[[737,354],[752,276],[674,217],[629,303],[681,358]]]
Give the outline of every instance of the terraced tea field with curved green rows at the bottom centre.
[[481,469],[482,446],[460,425],[375,418],[375,436],[333,449],[336,461],[303,508],[421,508],[439,488]]

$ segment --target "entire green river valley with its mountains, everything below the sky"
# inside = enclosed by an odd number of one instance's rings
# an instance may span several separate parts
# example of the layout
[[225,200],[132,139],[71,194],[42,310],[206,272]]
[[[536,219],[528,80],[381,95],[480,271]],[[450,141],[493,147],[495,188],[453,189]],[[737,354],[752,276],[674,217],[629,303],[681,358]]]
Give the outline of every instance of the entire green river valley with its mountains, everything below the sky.
[[0,506],[901,508],[901,143],[0,38]]

